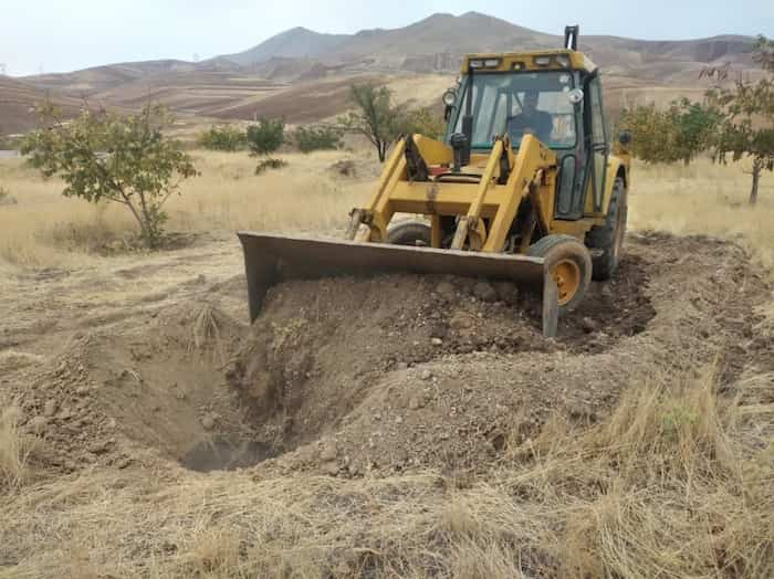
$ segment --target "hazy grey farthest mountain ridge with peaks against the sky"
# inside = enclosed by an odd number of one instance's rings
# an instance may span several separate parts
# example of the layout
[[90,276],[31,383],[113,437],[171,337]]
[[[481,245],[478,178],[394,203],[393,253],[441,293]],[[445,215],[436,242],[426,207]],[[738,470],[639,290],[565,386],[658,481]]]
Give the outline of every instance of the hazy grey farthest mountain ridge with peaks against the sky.
[[[559,32],[559,31],[557,31]],[[618,36],[584,36],[582,50],[616,74],[672,82],[684,81],[712,63],[750,66],[752,39],[715,36],[687,41],[644,41]],[[296,45],[297,44],[297,45]],[[561,46],[558,34],[517,27],[505,20],[467,12],[433,14],[405,28],[364,30],[356,34],[320,34],[293,29],[245,52],[223,56],[240,65],[254,65],[272,57],[297,57],[322,63],[367,60],[374,69],[451,72],[468,52],[499,52]]]

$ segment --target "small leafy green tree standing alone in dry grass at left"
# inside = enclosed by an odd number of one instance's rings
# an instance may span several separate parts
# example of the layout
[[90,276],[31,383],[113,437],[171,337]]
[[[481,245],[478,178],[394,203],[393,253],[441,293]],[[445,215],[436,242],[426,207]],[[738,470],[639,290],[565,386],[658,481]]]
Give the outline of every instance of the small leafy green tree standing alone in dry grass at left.
[[125,206],[145,244],[157,246],[167,219],[164,204],[184,179],[198,175],[180,144],[164,135],[164,108],[148,105],[126,117],[85,109],[67,123],[51,105],[40,113],[48,128],[29,133],[21,145],[32,166],[45,177],[61,177],[65,197]]

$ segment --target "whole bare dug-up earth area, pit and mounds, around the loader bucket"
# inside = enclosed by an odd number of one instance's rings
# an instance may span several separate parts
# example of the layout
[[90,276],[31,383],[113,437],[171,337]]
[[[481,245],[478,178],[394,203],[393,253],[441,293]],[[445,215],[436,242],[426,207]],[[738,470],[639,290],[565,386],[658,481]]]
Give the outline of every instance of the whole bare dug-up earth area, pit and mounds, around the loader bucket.
[[45,441],[39,467],[481,473],[552,417],[598,420],[652,368],[717,359],[733,389],[772,364],[754,329],[770,288],[711,239],[631,235],[556,340],[513,287],[400,275],[278,286],[249,328],[240,259],[200,240],[6,282],[2,386]]

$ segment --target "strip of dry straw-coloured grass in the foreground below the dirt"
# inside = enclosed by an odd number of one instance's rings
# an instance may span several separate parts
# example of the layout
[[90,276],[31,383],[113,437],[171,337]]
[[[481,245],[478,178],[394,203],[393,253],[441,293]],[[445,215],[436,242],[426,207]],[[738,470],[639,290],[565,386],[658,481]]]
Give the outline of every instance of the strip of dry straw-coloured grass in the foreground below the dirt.
[[0,497],[0,560],[22,556],[14,577],[768,578],[771,449],[744,442],[744,407],[714,383],[639,385],[464,488],[433,473],[59,478]]

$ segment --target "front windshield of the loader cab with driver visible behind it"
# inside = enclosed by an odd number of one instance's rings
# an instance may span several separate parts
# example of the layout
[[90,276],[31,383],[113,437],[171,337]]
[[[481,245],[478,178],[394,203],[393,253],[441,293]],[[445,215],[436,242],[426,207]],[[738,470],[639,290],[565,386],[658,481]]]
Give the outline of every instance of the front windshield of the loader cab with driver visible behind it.
[[[470,78],[462,78],[456,133],[462,131]],[[573,74],[563,71],[475,73],[472,82],[473,149],[491,148],[494,137],[508,134],[517,148],[526,134],[551,148],[575,146],[575,110],[569,102]]]

